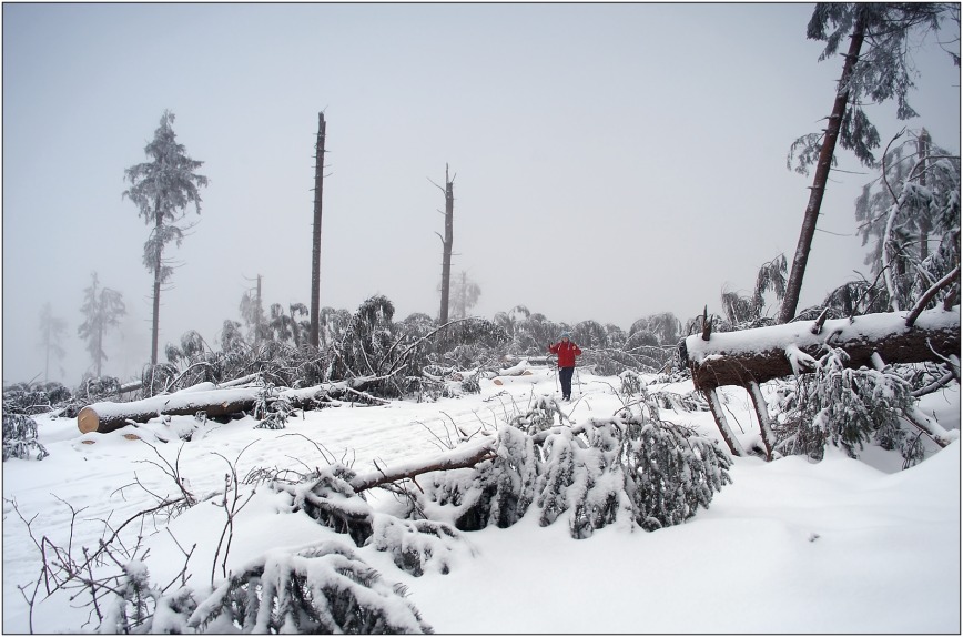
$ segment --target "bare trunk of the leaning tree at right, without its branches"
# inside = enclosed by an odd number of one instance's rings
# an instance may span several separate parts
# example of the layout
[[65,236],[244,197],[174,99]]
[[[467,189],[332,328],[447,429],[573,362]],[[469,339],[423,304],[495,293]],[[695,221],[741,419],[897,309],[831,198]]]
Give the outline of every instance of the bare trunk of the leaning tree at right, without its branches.
[[832,158],[835,152],[835,143],[839,138],[840,127],[842,125],[843,115],[845,114],[847,102],[849,101],[850,92],[845,89],[847,82],[853,72],[856,61],[860,57],[860,49],[863,46],[863,30],[865,21],[863,12],[859,12],[856,23],[853,27],[852,36],[850,36],[850,50],[845,55],[843,71],[840,75],[837,87],[837,97],[832,107],[832,114],[829,118],[829,124],[825,129],[825,136],[822,140],[822,148],[819,151],[819,161],[815,166],[815,174],[812,179],[812,189],[809,193],[809,204],[805,206],[805,214],[802,218],[802,230],[799,234],[799,243],[795,247],[795,256],[792,259],[792,270],[789,273],[789,281],[785,284],[785,296],[782,299],[782,305],[779,311],[779,323],[789,323],[795,316],[795,310],[799,305],[799,295],[802,292],[802,277],[805,274],[805,265],[809,262],[809,251],[812,247],[812,237],[815,234],[815,223],[819,219],[819,211],[822,206],[822,196],[825,193],[825,184],[829,179],[830,169],[832,168]]

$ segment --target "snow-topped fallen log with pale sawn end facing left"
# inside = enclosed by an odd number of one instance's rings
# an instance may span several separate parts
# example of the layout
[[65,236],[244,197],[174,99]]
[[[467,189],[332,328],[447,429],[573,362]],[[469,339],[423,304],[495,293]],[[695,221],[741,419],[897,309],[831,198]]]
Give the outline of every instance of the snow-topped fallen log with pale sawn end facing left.
[[[320,392],[331,386],[315,386],[303,390],[282,390],[280,396],[294,404],[313,400]],[[151,396],[130,403],[109,401],[92,403],[77,414],[77,427],[82,433],[105,434],[130,423],[145,423],[159,415],[191,416],[204,412],[209,417],[226,416],[254,407],[254,401],[263,387],[230,387],[221,390],[197,390]]]

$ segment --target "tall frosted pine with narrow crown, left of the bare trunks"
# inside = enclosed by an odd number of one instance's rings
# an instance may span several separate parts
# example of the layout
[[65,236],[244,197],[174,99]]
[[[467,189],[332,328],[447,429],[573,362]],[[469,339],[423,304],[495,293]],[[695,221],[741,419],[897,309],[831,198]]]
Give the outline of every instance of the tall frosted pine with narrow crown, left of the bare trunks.
[[123,192],[138,206],[138,213],[151,228],[144,243],[143,263],[154,275],[153,320],[151,337],[151,365],[158,364],[158,325],[161,309],[161,285],[170,281],[173,270],[164,260],[164,249],[171,242],[181,245],[185,226],[178,225],[186,216],[186,208],[193,203],[201,214],[199,188],[207,185],[207,178],[195,171],[204,162],[194,161],[184,154],[184,145],[176,142],[172,128],[174,113],[164,111],[154,139],[144,148],[151,161],[133,165],[124,171],[131,188]]

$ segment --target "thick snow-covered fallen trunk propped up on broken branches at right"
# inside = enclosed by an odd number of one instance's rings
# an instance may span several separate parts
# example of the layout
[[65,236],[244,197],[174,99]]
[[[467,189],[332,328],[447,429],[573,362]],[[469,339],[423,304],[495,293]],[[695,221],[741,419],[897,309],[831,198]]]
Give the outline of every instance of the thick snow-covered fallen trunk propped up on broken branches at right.
[[713,333],[708,341],[693,334],[682,341],[682,362],[699,390],[747,386],[811,371],[824,347],[839,347],[852,368],[873,367],[873,354],[888,364],[943,362],[960,352],[960,306],[922,312],[906,326],[908,312],[866,314],[825,321]]

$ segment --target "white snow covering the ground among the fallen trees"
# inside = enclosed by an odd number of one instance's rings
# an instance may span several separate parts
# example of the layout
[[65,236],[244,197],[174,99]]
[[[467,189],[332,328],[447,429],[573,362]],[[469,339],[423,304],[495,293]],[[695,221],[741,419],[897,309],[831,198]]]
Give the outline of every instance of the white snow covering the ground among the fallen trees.
[[[616,377],[582,371],[575,400],[565,408],[577,422],[611,416],[622,405],[618,386]],[[691,383],[649,390],[686,393]],[[480,395],[298,414],[282,431],[255,429],[250,418],[209,422],[187,443],[171,428],[193,418],[175,416],[170,425],[138,427],[152,446],[125,438],[131,427],[81,434],[75,419],[39,417],[40,442],[50,456],[3,463],[2,629],[30,629],[18,586],[29,594],[40,572],[39,550],[20,515],[33,519],[34,536],[65,546],[69,503],[80,512],[73,544],[93,547],[103,520],[116,526],[152,502],[135,479],[172,493],[158,454],[179,462],[197,495],[223,491],[229,459],[236,459],[240,476],[257,467],[324,466],[324,455],[310,441],[366,472],[374,461],[391,466],[437,455],[436,436],[445,439],[453,422],[472,431],[483,423],[494,427],[526,411],[539,394],[560,396],[551,370],[536,368],[534,376],[501,386],[483,380]],[[732,428],[748,448],[758,435],[750,400],[733,387],[722,395]],[[927,396],[921,406],[943,427],[960,428],[959,387]],[[720,439],[708,412],[669,411],[662,417]],[[407,586],[408,600],[437,633],[959,634],[960,442],[908,471],[900,471],[902,458],[879,448],[866,449],[863,461],[832,447],[821,463],[733,458],[733,483],[716,494],[708,510],[655,533],[606,527],[576,540],[565,516],[541,528],[533,507],[510,528],[465,534],[447,575],[428,570],[414,577],[372,547],[357,553],[386,580]],[[386,509],[394,501],[381,494],[372,503]],[[189,584],[207,584],[224,522],[222,508],[201,502],[166,527],[148,525],[152,582],[166,584],[183,567],[176,538],[185,547],[197,545]],[[285,514],[276,494],[260,487],[237,516],[226,567],[236,569],[268,549],[303,546],[324,534],[334,532],[303,514]],[[81,599],[41,597],[34,631],[94,628]]]

